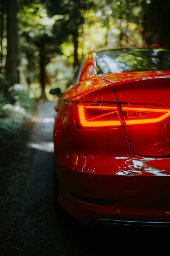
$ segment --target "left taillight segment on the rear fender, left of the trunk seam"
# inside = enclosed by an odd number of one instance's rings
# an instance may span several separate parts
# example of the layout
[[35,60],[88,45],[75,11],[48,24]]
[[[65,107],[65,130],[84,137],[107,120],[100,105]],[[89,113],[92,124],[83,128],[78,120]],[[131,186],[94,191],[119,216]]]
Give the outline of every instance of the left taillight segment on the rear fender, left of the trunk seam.
[[79,128],[121,126],[116,104],[78,104]]

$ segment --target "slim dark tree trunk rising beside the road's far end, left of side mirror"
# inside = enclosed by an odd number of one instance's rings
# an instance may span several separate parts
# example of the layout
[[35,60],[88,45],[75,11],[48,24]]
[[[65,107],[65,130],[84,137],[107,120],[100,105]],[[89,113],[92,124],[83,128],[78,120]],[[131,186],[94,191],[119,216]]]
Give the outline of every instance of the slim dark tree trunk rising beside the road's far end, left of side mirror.
[[41,84],[41,98],[45,99],[45,78],[46,78],[46,71],[45,71],[45,56],[44,56],[44,44],[41,45],[40,48],[40,84]]

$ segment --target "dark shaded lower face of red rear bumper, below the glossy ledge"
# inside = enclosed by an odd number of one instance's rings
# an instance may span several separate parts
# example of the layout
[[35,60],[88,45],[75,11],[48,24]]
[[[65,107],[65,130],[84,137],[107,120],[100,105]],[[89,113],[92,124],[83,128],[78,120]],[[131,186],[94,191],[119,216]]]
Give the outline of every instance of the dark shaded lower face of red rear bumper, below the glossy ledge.
[[[170,220],[169,177],[98,175],[99,180],[96,181],[95,174],[76,172],[63,166],[58,168],[59,184],[62,184],[59,202],[84,223],[89,224],[98,217]],[[89,204],[71,197],[69,191],[97,199],[116,198],[119,203],[113,206]]]

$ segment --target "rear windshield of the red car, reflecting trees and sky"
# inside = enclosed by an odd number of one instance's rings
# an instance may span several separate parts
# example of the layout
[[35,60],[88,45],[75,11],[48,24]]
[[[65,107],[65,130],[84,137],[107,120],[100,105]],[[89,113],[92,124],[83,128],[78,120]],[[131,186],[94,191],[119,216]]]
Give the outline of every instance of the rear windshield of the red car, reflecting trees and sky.
[[170,49],[115,49],[96,52],[98,74],[170,70]]

